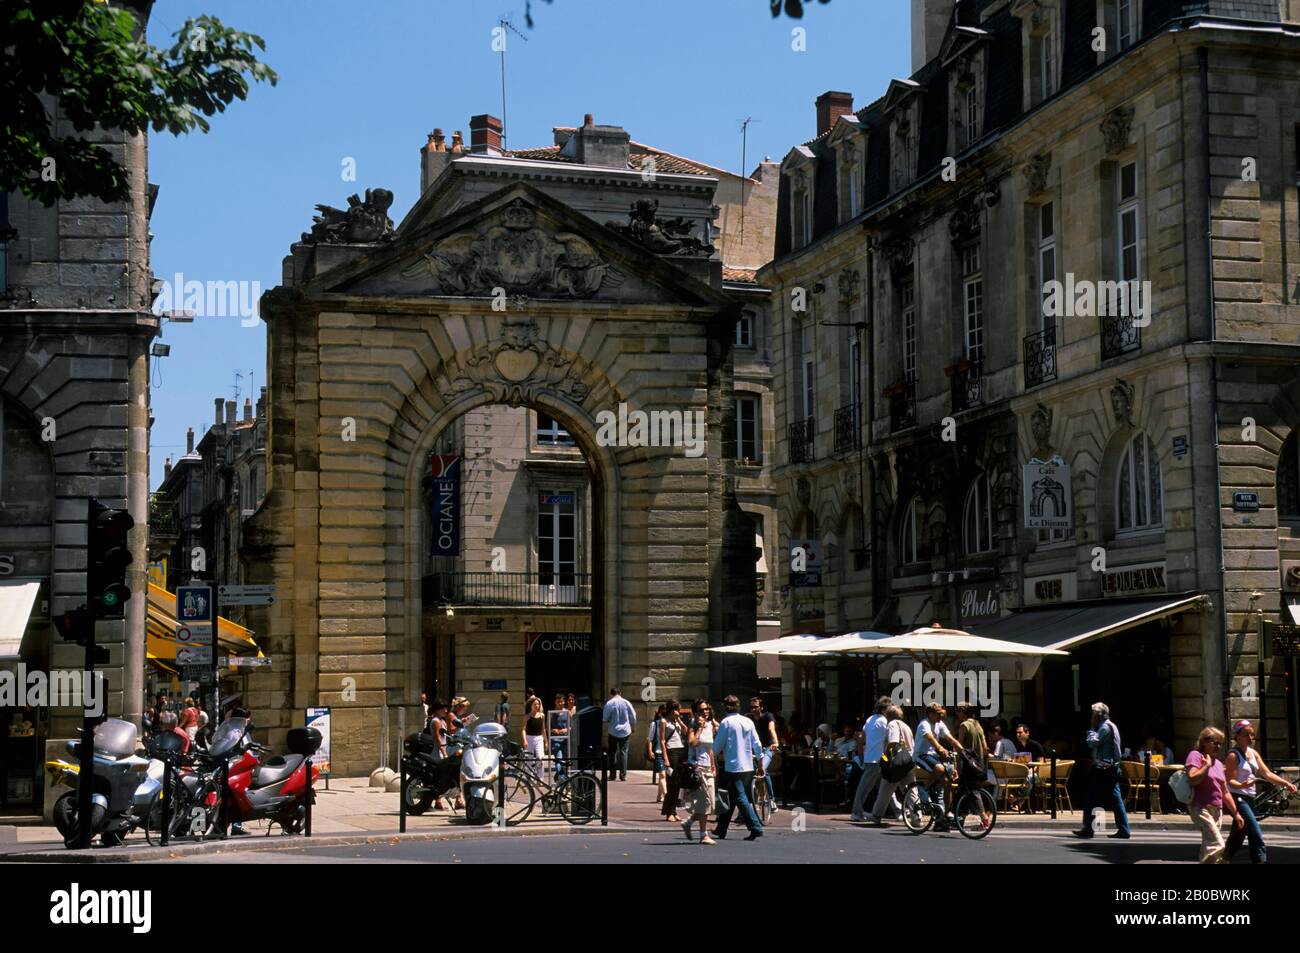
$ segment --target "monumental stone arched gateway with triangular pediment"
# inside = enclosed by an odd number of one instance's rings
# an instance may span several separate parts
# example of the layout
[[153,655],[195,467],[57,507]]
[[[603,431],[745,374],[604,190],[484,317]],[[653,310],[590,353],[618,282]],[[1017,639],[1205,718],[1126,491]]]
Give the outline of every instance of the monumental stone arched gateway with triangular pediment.
[[[645,712],[646,679],[660,698],[749,688],[703,651],[755,624],[723,450],[740,304],[710,254],[716,182],[608,168],[578,198],[572,173],[500,169],[451,163],[395,231],[386,194],[326,212],[263,300],[269,480],[244,558],[277,599],[252,619],[274,662],[248,702],[273,735],[332,706],[337,774],[377,764],[384,709],[420,718],[430,452],[488,404],[547,415],[589,463],[597,702],[619,685]],[[660,415],[602,429],[620,408]],[[697,411],[703,452],[662,446]]]

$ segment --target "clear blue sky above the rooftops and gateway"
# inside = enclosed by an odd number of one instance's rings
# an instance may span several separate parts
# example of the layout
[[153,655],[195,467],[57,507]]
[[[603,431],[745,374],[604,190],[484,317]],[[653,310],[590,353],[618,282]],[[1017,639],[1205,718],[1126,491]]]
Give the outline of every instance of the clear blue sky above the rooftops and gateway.
[[[255,87],[212,120],[207,135],[150,139],[153,272],[172,281],[280,282],[289,246],[316,203],[393,190],[400,221],[419,190],[419,148],[434,126],[464,130],[477,113],[500,116],[500,60],[491,29],[502,14],[526,42],[507,42],[508,146],[551,143],[551,126],[584,113],[624,126],[638,142],[740,169],[779,160],[815,133],[814,100],[848,90],[855,107],[910,72],[909,0],[807,0],[802,21],[774,20],[767,0],[159,0],[150,39],[168,46],[188,16],[211,13],[266,42],[276,87]],[[806,52],[790,30],[802,26]],[[346,159],[356,181],[343,181]],[[212,400],[239,402],[264,385],[260,321],[198,317],[165,324],[172,354],[153,368],[151,481],[185,430],[212,423]]]

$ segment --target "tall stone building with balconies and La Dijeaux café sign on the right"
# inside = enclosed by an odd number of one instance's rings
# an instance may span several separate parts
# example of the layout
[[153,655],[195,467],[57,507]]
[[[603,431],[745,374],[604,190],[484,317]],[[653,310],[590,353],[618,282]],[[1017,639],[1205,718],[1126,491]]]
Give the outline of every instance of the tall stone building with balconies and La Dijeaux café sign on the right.
[[1262,709],[1294,757],[1296,10],[914,7],[913,75],[783,163],[781,525],[828,554],[792,603],[1063,647],[1001,710],[1065,741],[1096,698],[1179,751]]

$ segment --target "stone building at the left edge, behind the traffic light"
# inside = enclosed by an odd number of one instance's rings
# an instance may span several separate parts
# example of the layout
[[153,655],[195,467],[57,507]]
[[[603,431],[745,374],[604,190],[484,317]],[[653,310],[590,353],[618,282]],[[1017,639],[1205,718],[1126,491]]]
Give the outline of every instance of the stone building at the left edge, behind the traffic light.
[[[147,4],[127,4],[147,16]],[[98,624],[107,646],[107,711],[139,720],[144,668],[144,563],[148,514],[148,360],[159,333],[150,312],[148,183],[146,138],[112,130],[75,131],[53,98],[44,99],[60,134],[105,147],[126,169],[130,196],[105,204],[91,198],[49,207],[21,194],[0,195],[0,597],[26,584],[21,631],[0,633],[0,664],[29,670],[81,670],[81,646],[61,640],[53,616],[86,603],[87,501],[130,511],[135,594],[125,619]],[[8,606],[6,606],[8,608]],[[30,608],[30,614],[27,610]],[[72,737],[82,712],[35,712],[35,745],[10,750],[9,719],[0,751],[35,785],[39,800],[44,738]],[[30,750],[29,750],[30,749]],[[13,788],[4,792],[13,793]],[[21,796],[20,801],[23,800]]]

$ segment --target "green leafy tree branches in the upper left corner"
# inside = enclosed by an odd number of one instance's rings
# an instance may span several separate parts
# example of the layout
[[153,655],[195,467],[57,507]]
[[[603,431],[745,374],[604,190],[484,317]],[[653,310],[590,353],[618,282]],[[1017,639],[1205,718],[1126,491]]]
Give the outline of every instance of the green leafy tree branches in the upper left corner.
[[[250,81],[274,86],[278,78],[257,60],[260,36],[208,16],[186,20],[160,49],[121,5],[0,0],[0,190],[46,205],[127,196],[126,169],[84,135],[96,124],[131,134],[207,133],[207,117],[246,99]],[[62,124],[42,94],[57,96]]]

